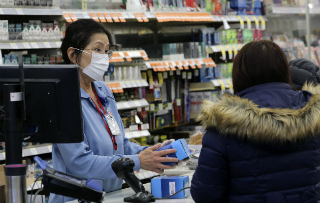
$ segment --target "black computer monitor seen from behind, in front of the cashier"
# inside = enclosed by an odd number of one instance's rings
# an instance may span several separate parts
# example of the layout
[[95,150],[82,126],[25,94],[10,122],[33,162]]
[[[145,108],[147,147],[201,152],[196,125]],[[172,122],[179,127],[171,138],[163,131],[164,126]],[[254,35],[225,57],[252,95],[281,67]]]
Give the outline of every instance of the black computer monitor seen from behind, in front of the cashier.
[[[26,140],[37,143],[80,143],[83,123],[79,71],[75,65],[24,65]],[[19,83],[18,65],[0,65],[0,108],[4,84]],[[6,109],[4,109],[6,111]],[[3,113],[3,111],[0,111]],[[2,126],[4,119],[1,119]],[[3,131],[4,129],[2,129]],[[4,142],[4,134],[0,142]]]

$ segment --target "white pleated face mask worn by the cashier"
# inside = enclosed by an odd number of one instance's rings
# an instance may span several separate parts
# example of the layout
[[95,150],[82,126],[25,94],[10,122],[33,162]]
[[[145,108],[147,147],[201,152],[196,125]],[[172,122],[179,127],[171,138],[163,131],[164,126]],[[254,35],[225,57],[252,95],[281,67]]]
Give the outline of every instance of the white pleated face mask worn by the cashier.
[[[80,49],[77,49],[77,50],[82,51]],[[86,51],[82,51],[82,52],[90,54]],[[78,66],[83,70],[82,73],[86,74],[87,76],[89,76],[95,81],[99,81],[105,75],[105,72],[108,71],[109,56],[108,54],[98,54],[95,52],[92,52],[92,54],[90,55],[92,55],[91,62],[85,69],[80,65]]]

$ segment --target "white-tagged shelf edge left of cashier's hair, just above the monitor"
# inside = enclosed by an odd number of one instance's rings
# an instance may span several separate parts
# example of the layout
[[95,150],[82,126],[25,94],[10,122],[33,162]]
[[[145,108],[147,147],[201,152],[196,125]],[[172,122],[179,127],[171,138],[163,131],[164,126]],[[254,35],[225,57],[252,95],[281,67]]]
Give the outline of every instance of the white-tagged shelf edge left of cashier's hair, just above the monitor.
[[0,49],[57,49],[60,41],[54,42],[0,42]]

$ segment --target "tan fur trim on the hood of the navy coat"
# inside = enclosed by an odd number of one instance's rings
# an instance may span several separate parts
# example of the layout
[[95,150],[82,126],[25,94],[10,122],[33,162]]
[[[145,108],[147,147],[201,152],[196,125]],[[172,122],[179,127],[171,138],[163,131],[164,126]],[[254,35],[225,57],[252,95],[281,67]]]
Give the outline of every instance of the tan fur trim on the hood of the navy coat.
[[204,129],[215,127],[223,135],[263,143],[297,142],[320,133],[320,85],[305,84],[312,96],[305,107],[258,108],[251,100],[224,95],[218,103],[204,101],[198,117]]

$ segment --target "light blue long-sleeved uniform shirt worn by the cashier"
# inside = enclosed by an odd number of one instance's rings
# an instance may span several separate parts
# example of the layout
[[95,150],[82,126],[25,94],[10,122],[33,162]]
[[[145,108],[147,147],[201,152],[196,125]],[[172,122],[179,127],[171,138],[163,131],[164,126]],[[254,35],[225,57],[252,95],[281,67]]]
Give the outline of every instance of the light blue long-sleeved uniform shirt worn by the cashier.
[[[132,143],[124,136],[122,120],[114,96],[108,86],[101,81],[92,84],[98,97],[105,98],[105,105],[111,111],[122,132],[122,136],[115,136],[119,150],[119,152],[116,151],[116,154],[118,155],[113,155],[114,147],[106,126],[89,94],[81,88],[84,140],[82,143],[52,144],[53,167],[57,171],[83,179],[102,179],[104,180],[105,192],[111,192],[121,189],[123,183],[122,179],[116,177],[111,163],[121,157],[130,157],[135,162],[134,171],[139,171],[138,153],[147,147]],[[104,115],[102,110],[101,113]],[[72,128],[72,126],[70,127]],[[50,203],[62,203],[70,200],[74,199],[56,194],[50,194],[49,198]]]

